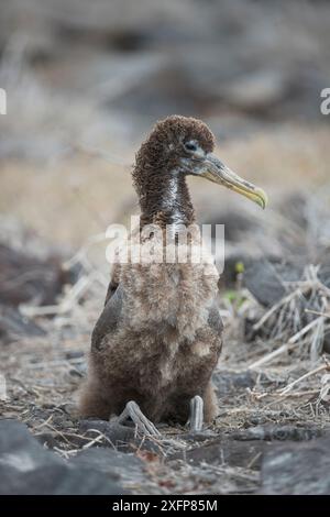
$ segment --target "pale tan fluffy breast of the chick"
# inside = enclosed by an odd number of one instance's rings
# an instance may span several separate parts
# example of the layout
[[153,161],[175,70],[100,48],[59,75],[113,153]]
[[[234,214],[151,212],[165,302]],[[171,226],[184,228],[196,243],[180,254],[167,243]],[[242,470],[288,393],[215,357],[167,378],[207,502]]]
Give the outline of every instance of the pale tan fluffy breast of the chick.
[[197,263],[124,264],[120,285],[124,289],[125,324],[152,333],[167,332],[174,342],[193,340],[207,322],[208,308],[218,293],[218,278],[209,258]]

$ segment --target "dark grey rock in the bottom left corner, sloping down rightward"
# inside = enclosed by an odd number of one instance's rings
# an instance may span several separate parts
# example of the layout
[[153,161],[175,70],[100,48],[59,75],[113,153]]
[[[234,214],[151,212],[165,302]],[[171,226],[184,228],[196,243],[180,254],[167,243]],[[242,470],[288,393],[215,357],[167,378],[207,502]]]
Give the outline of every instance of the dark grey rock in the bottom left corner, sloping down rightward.
[[111,495],[125,491],[118,475],[105,476],[94,464],[75,466],[44,449],[26,426],[15,420],[0,420],[1,495]]

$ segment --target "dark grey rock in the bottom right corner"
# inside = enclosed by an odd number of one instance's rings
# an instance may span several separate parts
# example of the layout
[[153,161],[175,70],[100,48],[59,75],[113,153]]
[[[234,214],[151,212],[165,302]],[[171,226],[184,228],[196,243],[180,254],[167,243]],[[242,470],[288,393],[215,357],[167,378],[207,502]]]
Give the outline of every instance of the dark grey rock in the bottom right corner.
[[273,446],[262,463],[262,494],[329,495],[330,439]]

